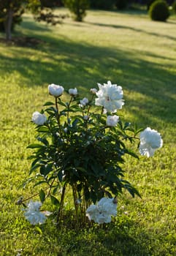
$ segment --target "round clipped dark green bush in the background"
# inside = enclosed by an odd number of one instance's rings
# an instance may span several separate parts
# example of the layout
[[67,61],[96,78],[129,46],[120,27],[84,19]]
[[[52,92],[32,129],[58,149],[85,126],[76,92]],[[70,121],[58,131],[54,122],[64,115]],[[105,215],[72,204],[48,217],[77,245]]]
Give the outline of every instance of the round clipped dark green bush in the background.
[[169,7],[164,0],[156,0],[150,5],[149,15],[152,20],[166,21],[169,18]]

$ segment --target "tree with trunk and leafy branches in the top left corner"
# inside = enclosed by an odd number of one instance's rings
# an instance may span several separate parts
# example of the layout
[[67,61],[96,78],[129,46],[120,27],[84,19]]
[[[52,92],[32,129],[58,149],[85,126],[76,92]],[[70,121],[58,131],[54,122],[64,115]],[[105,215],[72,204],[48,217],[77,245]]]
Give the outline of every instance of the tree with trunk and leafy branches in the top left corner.
[[27,9],[31,10],[34,18],[45,20],[56,25],[61,22],[57,18],[64,18],[53,14],[52,8],[61,5],[61,0],[0,0],[0,22],[4,23],[6,39],[12,39],[12,26],[15,21],[21,20],[21,15]]

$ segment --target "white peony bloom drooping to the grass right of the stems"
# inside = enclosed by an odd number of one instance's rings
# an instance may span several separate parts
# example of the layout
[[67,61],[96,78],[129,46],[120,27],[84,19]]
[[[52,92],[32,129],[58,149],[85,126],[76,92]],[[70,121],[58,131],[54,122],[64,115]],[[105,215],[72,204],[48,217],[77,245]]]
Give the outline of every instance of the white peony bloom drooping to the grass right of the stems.
[[114,198],[103,197],[97,205],[91,205],[86,211],[86,216],[89,220],[96,223],[109,223],[111,216],[117,214],[117,203]]

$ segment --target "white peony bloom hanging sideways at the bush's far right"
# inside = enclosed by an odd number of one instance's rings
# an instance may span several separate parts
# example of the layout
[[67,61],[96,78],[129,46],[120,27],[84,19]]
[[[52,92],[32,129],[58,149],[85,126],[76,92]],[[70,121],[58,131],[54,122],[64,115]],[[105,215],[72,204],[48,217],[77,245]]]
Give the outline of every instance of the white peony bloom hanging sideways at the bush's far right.
[[163,146],[160,133],[150,127],[140,133],[139,153],[142,156],[153,157],[157,148]]

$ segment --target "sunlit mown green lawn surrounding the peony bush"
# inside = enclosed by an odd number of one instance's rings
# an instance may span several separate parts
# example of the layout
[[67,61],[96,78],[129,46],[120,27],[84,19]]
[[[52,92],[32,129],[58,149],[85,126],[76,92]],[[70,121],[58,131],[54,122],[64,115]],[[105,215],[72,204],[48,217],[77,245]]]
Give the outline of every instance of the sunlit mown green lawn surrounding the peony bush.
[[[56,27],[25,15],[15,37],[39,45],[0,43],[0,255],[176,255],[175,29],[175,17],[153,22],[142,12],[89,11],[84,23],[68,18]],[[126,178],[142,200],[124,193],[118,217],[104,227],[74,230],[72,216],[61,229],[50,220],[31,227],[15,204],[37,190],[19,189],[31,164],[26,146],[35,141],[31,114],[48,100],[49,83],[87,96],[107,80],[123,87],[120,115],[164,140],[154,157],[126,159]]]

